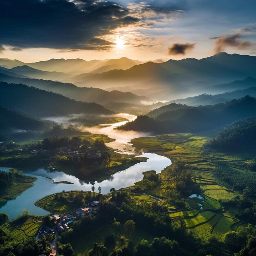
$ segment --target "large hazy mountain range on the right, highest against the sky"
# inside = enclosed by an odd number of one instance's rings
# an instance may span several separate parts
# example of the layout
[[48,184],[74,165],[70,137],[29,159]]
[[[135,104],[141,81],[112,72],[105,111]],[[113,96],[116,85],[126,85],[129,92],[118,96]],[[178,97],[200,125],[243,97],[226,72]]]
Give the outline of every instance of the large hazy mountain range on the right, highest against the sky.
[[[218,53],[202,58],[186,58],[164,63],[148,62],[128,70],[111,70],[102,74],[76,77],[79,86],[137,86],[137,89],[155,87],[168,89],[166,99],[177,99],[184,92],[204,92],[204,89],[219,83],[256,77],[256,57],[239,54]],[[171,89],[171,90],[170,90]],[[215,93],[218,93],[216,89]],[[157,94],[155,95],[157,97]]]

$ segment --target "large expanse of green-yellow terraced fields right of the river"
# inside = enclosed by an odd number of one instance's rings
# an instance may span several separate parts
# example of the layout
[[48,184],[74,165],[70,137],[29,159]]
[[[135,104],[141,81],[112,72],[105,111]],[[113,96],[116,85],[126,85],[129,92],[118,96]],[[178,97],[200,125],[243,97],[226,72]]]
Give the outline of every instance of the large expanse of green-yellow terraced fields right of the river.
[[[203,199],[187,198],[189,209],[178,209],[169,212],[171,218],[182,216],[186,227],[199,236],[213,234],[222,240],[224,234],[230,230],[236,230],[241,223],[234,214],[227,210],[218,200],[230,200],[238,195],[240,191],[233,190],[231,185],[224,181],[224,174],[234,173],[234,179],[250,180],[246,185],[256,182],[256,175],[249,172],[244,164],[253,155],[227,154],[220,152],[204,152],[203,145],[207,137],[194,136],[192,134],[170,134],[156,137],[141,137],[132,139],[132,145],[137,150],[143,149],[164,155],[172,161],[180,160],[186,164],[191,171],[192,179],[200,185]],[[166,145],[170,145],[167,147]],[[223,171],[225,166],[225,171]],[[230,171],[230,172],[229,172]],[[162,180],[168,175],[168,167],[160,174]],[[166,182],[163,182],[166,184]],[[231,183],[232,184],[232,183]],[[244,185],[245,186],[245,185]],[[153,193],[148,194],[165,196],[166,189],[154,188]],[[166,196],[167,198],[167,196]],[[177,210],[177,209],[176,209]],[[170,209],[170,211],[173,211]]]

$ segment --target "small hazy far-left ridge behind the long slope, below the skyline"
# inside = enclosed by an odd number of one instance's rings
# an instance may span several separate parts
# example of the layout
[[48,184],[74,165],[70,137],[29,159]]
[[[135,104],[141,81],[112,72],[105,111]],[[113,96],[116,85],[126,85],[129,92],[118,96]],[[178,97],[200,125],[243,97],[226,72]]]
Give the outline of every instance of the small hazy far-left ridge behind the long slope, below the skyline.
[[42,70],[37,70],[33,67],[29,67],[28,65],[13,67],[10,69],[10,71],[14,72],[15,74],[19,74],[22,76],[27,76],[35,79],[65,81],[69,77],[67,74],[63,72],[42,71]]

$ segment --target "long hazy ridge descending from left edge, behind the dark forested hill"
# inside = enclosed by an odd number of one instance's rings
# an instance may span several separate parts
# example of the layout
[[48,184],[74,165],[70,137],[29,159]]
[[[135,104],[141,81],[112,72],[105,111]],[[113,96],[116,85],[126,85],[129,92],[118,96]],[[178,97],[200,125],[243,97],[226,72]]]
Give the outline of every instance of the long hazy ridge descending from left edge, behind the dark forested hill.
[[28,79],[8,76],[0,69],[0,81],[7,83],[22,83],[29,86],[34,86],[42,90],[49,90],[66,97],[84,102],[107,103],[109,101],[127,102],[140,104],[141,101],[150,101],[147,97],[137,96],[130,92],[112,91],[108,92],[99,88],[80,88],[72,83],[61,83],[58,81],[50,81],[43,79]]

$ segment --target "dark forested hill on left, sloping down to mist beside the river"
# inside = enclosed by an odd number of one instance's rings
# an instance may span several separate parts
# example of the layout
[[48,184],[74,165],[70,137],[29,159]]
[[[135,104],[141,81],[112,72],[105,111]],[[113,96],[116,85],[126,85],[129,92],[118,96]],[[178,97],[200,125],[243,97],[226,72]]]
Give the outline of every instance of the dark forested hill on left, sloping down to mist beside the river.
[[60,116],[74,113],[105,114],[112,112],[97,103],[85,103],[63,95],[39,90],[24,84],[0,82],[0,103],[7,108],[35,117]]

